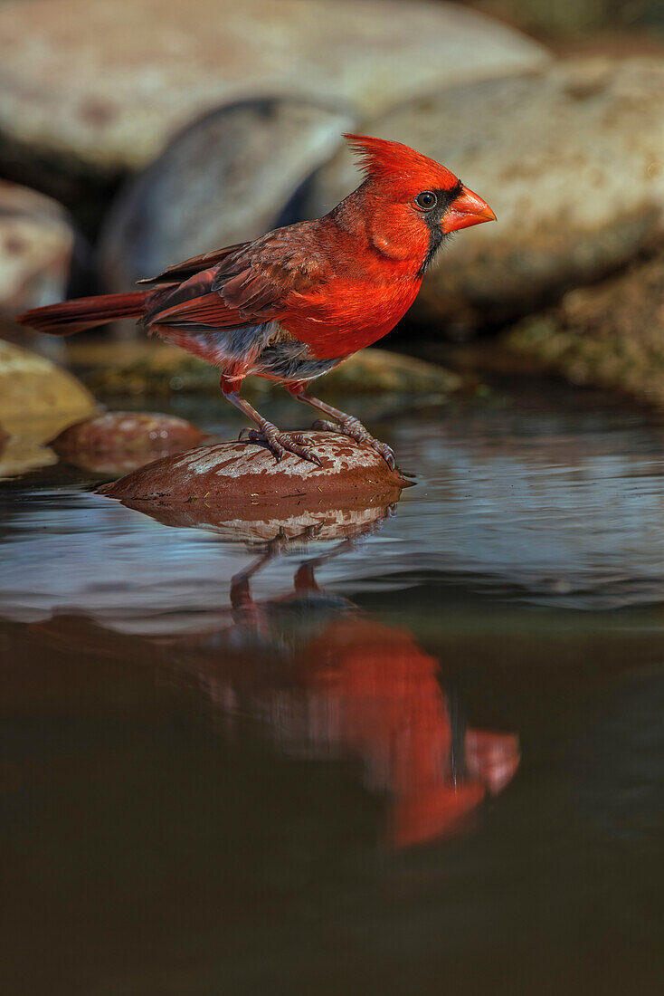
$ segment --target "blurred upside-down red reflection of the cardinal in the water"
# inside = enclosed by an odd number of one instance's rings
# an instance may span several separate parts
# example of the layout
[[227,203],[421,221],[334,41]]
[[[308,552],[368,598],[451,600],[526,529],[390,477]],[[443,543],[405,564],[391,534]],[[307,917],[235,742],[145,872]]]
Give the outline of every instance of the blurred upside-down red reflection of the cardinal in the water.
[[453,833],[512,779],[517,737],[453,730],[437,660],[407,629],[321,591],[314,571],[328,558],[301,567],[290,595],[255,603],[249,580],[272,556],[233,580],[235,622],[215,633],[224,652],[199,682],[227,717],[259,719],[288,753],[359,761],[366,787],[389,800],[393,845]]

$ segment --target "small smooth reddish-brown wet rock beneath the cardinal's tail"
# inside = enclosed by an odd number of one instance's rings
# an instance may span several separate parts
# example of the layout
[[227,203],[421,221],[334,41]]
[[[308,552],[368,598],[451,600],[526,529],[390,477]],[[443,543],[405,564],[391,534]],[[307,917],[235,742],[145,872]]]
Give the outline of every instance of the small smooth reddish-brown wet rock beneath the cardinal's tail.
[[51,446],[68,463],[114,474],[180,453],[202,438],[195,425],[173,415],[110,411],[71,425]]

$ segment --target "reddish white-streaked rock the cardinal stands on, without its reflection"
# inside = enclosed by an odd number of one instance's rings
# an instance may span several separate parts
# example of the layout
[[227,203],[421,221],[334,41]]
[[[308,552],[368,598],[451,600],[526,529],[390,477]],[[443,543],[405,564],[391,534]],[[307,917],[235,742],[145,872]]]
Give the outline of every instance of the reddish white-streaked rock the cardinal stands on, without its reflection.
[[[289,514],[334,506],[339,499],[384,506],[395,500],[408,481],[370,446],[332,432],[305,432],[307,445],[321,457],[323,467],[286,453],[277,463],[264,446],[250,442],[222,442],[202,446],[142,467],[101,492],[111,498],[137,502],[189,505],[219,510],[235,509],[242,519],[281,518],[283,503]],[[284,506],[286,507],[286,506]]]

